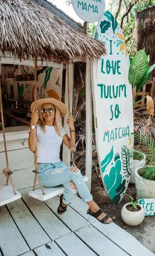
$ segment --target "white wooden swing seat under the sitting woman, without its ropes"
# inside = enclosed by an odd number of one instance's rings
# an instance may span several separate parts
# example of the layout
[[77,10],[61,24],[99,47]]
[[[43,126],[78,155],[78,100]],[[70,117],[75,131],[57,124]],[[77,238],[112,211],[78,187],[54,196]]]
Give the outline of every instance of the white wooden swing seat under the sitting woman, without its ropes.
[[[88,181],[88,177],[83,176],[84,181]],[[36,198],[41,201],[46,201],[54,196],[58,196],[59,194],[62,194],[64,191],[63,185],[53,187],[53,188],[47,188],[43,187],[45,194],[42,194],[42,190],[40,187],[38,187],[35,191],[29,191],[29,196],[32,196],[33,198]]]

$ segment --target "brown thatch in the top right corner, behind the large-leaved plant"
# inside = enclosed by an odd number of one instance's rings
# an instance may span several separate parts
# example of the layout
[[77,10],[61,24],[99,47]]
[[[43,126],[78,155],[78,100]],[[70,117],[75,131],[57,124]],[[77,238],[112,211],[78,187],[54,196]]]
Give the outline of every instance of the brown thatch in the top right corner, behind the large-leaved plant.
[[155,63],[155,6],[136,12],[137,50],[145,49],[150,54],[150,64]]

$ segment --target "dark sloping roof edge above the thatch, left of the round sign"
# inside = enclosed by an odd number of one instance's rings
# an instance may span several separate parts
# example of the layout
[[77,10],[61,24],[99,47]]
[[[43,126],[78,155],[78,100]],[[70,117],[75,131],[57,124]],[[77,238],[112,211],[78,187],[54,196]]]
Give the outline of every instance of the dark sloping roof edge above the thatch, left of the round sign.
[[[83,32],[83,26],[82,24],[78,23],[77,21],[73,20],[71,17],[69,17],[66,13],[64,13],[61,9],[57,8],[53,3],[50,3],[47,0],[33,0],[38,5],[46,8],[50,13],[53,13],[53,15],[56,15],[64,21],[67,25],[71,26],[71,28]],[[62,1],[62,0],[60,0]]]

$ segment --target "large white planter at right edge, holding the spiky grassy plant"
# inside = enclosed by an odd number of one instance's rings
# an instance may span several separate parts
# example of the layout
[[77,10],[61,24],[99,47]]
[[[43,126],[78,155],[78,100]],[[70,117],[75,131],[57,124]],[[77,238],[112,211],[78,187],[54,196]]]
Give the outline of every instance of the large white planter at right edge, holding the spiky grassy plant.
[[139,168],[135,169],[137,198],[155,198],[155,181],[142,178],[138,170]]

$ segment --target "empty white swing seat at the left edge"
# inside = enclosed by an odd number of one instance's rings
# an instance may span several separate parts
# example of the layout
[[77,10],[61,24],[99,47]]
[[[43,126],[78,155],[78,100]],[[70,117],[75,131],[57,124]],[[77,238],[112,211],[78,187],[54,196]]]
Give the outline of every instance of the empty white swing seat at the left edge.
[[0,185],[0,206],[9,204],[9,202],[13,202],[19,198],[21,198],[20,192],[16,191],[16,194],[14,194],[13,187],[10,184]]

